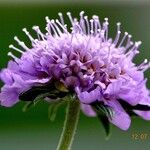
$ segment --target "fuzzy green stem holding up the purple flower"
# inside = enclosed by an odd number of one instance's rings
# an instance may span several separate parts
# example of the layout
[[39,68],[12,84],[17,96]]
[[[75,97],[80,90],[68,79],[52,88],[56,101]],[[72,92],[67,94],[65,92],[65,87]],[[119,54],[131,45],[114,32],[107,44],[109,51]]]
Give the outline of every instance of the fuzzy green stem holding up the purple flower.
[[79,120],[80,106],[77,100],[69,100],[63,131],[57,150],[70,150]]

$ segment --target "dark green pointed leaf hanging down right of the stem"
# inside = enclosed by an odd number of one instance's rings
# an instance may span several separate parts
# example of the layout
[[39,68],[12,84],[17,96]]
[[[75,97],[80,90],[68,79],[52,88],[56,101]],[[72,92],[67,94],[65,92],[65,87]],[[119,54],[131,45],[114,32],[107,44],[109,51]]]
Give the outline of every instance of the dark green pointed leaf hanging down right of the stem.
[[112,109],[104,105],[103,102],[95,102],[92,104],[92,106],[105,129],[106,138],[108,138],[110,135],[110,122],[108,118],[111,119],[113,117]]

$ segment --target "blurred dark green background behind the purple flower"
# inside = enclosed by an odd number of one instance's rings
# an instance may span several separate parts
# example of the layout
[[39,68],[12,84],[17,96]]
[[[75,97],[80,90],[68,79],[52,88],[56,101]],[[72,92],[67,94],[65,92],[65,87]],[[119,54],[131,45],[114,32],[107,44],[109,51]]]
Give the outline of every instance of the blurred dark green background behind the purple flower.
[[[140,63],[145,57],[150,58],[150,3],[146,1],[9,3],[7,0],[0,2],[0,68],[6,66],[10,59],[7,56],[8,45],[15,43],[13,40],[15,35],[29,43],[21,31],[22,28],[27,27],[32,33],[31,27],[39,25],[44,31],[45,16],[57,18],[58,12],[66,14],[70,11],[77,17],[81,10],[89,16],[97,14],[101,20],[108,17],[112,37],[115,36],[116,22],[120,21],[123,32],[128,31],[134,40],[143,42],[141,53],[135,61]],[[149,76],[150,73],[146,72],[146,77]],[[148,86],[150,87],[150,84]],[[40,103],[26,113],[22,112],[23,105],[19,103],[13,108],[0,108],[0,150],[55,150],[62,130],[65,106],[59,109],[57,118],[52,123],[48,119],[46,103]],[[145,140],[135,140],[132,139],[133,133],[146,133],[148,137]],[[112,125],[112,136],[106,141],[99,121],[82,113],[73,144],[73,150],[148,150],[149,147],[150,122],[133,118],[131,128],[127,132]]]

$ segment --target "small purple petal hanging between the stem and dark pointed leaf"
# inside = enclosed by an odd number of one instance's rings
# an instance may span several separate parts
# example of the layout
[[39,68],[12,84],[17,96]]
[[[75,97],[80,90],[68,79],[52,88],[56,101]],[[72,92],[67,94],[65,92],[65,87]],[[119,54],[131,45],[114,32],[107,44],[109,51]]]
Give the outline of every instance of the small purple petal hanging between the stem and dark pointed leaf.
[[96,113],[95,111],[92,109],[92,107],[90,105],[86,105],[86,104],[80,104],[81,106],[81,110],[83,111],[83,113],[87,116],[90,116],[90,117],[95,117],[96,116]]

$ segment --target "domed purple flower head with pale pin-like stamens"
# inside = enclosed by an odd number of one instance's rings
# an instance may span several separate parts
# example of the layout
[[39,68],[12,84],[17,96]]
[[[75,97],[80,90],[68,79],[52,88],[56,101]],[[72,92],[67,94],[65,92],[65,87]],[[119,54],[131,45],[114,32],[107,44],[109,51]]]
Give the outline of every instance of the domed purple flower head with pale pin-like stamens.
[[[1,105],[13,106],[21,99],[22,93],[33,87],[44,87],[40,89],[43,93],[57,91],[60,97],[63,97],[62,93],[73,93],[88,116],[97,115],[94,104],[103,104],[112,111],[111,117],[107,116],[109,121],[123,130],[127,130],[131,122],[125,104],[128,104],[127,109],[133,108],[133,113],[150,120],[150,111],[137,109],[150,106],[150,91],[144,79],[144,71],[149,69],[150,63],[147,59],[140,65],[133,62],[141,41],[133,43],[127,32],[122,36],[120,23],[117,23],[114,40],[109,38],[108,18],[101,23],[98,16],[89,20],[83,11],[79,21],[70,12],[67,15],[70,29],[59,13],[59,20],[46,17],[46,34],[38,26],[33,27],[37,39],[24,28],[31,40],[31,48],[14,37],[21,48],[9,47],[20,52],[21,58],[8,53],[13,60],[0,73],[4,82]],[[51,101],[53,96],[46,96],[45,100]]]

